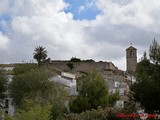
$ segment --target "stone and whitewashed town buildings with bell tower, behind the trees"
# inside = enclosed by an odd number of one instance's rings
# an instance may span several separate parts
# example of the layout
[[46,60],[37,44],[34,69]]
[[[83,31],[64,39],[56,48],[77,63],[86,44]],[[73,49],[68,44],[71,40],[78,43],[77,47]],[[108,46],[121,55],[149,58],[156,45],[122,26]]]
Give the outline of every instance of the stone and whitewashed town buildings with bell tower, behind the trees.
[[[50,66],[52,69],[57,71],[57,76],[53,77],[55,82],[64,85],[70,94],[77,95],[77,85],[79,77],[83,74],[87,74],[90,71],[96,69],[107,81],[109,92],[115,93],[117,90],[120,94],[120,99],[117,101],[116,105],[123,107],[129,100],[129,86],[132,82],[135,82],[134,72],[137,64],[137,49],[130,46],[126,49],[126,71],[118,69],[112,62],[94,60],[80,60],[79,58],[72,58],[71,60],[44,60],[41,62],[42,66]],[[12,81],[14,76],[13,69],[19,64],[1,64],[0,67],[6,72],[5,74],[9,76],[9,81]],[[6,103],[8,102],[8,103]],[[6,113],[10,115],[14,114],[14,107],[12,106],[12,99],[6,98],[5,104]]]

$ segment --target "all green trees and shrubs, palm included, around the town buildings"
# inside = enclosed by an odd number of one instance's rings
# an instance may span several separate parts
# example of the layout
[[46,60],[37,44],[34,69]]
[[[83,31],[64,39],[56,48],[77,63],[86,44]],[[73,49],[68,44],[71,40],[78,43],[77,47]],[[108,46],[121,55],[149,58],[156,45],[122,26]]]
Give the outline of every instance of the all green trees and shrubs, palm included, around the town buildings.
[[[38,65],[46,57],[44,47],[35,49],[34,58]],[[160,110],[160,46],[155,40],[150,46],[149,57],[148,59],[144,53],[143,59],[137,65],[137,82],[131,86],[131,102],[134,100],[135,103],[140,103],[146,112],[155,112]],[[74,62],[82,61],[72,58],[68,67],[73,69]],[[12,117],[6,116],[6,120],[113,120],[118,119],[115,116],[117,113],[135,111],[129,110],[134,108],[132,105],[135,103],[128,104],[123,109],[115,107],[119,93],[109,93],[106,81],[96,70],[80,78],[78,96],[70,101],[71,97],[66,90],[49,79],[55,74],[47,66],[17,65],[14,68],[13,81],[9,85],[16,112]],[[5,98],[7,82],[7,77],[0,74],[0,99]]]

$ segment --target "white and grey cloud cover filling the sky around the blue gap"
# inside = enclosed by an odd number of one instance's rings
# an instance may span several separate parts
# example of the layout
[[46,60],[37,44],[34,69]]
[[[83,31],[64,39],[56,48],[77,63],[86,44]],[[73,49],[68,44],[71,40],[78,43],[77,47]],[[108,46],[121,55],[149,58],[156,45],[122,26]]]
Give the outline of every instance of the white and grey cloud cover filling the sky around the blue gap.
[[74,20],[72,13],[63,11],[68,6],[63,0],[4,2],[0,14],[7,12],[12,19],[0,21],[5,29],[5,35],[0,33],[3,39],[0,47],[9,51],[8,55],[1,52],[1,56],[10,62],[29,61],[35,47],[42,45],[52,59],[77,56],[113,61],[125,69],[125,49],[131,42],[140,49],[141,55],[154,37],[160,39],[159,0],[92,0],[88,3],[84,7],[96,3],[103,14],[95,20],[80,21]]

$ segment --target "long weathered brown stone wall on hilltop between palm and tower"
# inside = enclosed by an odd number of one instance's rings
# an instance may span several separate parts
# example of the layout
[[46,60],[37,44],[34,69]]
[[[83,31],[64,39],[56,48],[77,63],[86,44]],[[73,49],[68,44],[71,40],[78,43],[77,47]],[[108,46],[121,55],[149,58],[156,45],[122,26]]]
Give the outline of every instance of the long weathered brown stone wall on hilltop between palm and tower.
[[[73,69],[68,67],[68,63],[73,64]],[[97,69],[105,79],[108,80],[124,80],[124,72],[118,70],[111,62],[69,62],[69,61],[52,61],[49,63],[56,69],[64,72],[79,73],[79,72],[90,72]]]

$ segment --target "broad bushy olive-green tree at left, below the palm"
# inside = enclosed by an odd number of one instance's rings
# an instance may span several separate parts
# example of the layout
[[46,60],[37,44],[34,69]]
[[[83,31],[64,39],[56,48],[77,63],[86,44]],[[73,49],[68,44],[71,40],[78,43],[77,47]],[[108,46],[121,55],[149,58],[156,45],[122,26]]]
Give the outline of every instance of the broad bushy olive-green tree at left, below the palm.
[[16,66],[14,72],[15,76],[10,84],[11,96],[16,110],[22,111],[17,111],[16,114],[21,116],[22,113],[22,116],[25,114],[33,117],[32,113],[33,115],[43,114],[43,111],[40,111],[41,113],[34,111],[37,109],[35,105],[38,105],[40,110],[49,105],[51,106],[50,118],[57,119],[64,115],[66,111],[59,109],[57,112],[56,110],[59,107],[66,108],[64,102],[67,100],[68,94],[63,87],[50,80],[55,75],[53,69],[46,66],[37,67],[33,64],[25,64]]

